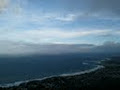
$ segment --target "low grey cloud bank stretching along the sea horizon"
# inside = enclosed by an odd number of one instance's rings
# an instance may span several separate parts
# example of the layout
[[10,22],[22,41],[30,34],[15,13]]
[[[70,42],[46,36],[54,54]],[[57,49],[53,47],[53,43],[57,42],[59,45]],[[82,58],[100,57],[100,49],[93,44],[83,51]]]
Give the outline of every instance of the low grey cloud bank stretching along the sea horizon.
[[93,44],[30,44],[0,41],[0,55],[56,55],[69,53],[120,53],[120,43]]

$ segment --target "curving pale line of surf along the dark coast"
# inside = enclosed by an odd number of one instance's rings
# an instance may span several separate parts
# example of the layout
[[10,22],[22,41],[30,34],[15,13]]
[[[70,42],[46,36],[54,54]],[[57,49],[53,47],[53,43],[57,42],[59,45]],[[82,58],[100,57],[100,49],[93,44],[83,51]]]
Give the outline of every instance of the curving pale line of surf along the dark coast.
[[80,71],[80,72],[75,72],[75,73],[70,73],[70,74],[52,75],[52,76],[43,77],[43,78],[40,78],[40,79],[30,79],[30,80],[25,80],[25,81],[17,81],[17,82],[8,83],[8,84],[0,84],[0,87],[8,88],[8,87],[13,87],[13,86],[19,86],[22,83],[27,83],[27,82],[35,81],[35,80],[41,81],[41,80],[45,80],[45,79],[49,79],[49,78],[53,78],[53,77],[66,77],[66,76],[82,75],[82,74],[94,72],[94,71],[102,69],[102,68],[104,68],[103,65],[97,65],[96,67],[94,67],[92,69],[85,70],[85,71]]

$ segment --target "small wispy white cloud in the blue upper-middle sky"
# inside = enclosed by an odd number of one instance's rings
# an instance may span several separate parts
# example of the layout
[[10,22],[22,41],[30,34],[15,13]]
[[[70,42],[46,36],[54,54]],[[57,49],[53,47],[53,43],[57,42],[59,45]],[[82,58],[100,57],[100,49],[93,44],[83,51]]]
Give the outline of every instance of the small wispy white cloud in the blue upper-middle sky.
[[34,22],[44,22],[44,21],[61,21],[61,22],[72,22],[75,21],[79,15],[73,13],[39,13],[39,15],[32,14],[31,20]]

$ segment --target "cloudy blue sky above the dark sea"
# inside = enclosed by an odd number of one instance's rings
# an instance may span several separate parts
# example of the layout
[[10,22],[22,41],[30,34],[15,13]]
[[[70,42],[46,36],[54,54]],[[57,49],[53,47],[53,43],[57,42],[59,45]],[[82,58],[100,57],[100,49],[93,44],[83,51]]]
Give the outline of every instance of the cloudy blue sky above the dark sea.
[[63,53],[66,45],[67,52],[86,52],[93,46],[119,48],[119,3],[120,0],[0,0],[0,54]]

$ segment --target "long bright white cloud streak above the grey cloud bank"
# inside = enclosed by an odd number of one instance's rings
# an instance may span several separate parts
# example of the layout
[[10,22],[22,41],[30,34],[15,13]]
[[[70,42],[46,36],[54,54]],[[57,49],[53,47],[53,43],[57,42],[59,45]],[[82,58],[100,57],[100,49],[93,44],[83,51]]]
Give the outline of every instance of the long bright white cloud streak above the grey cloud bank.
[[38,30],[2,30],[0,40],[22,41],[31,43],[55,43],[79,37],[98,36],[110,33],[109,30],[64,30],[44,28]]

